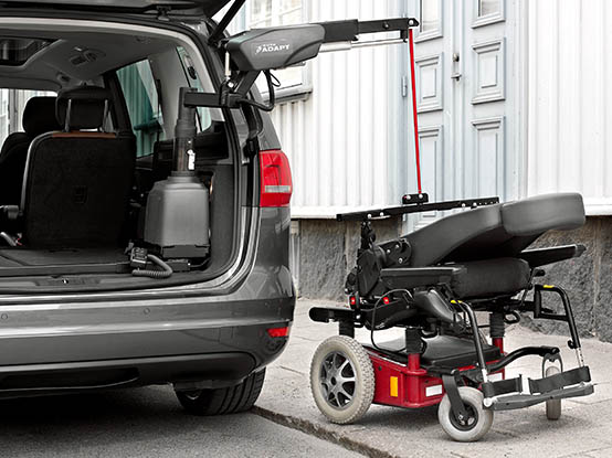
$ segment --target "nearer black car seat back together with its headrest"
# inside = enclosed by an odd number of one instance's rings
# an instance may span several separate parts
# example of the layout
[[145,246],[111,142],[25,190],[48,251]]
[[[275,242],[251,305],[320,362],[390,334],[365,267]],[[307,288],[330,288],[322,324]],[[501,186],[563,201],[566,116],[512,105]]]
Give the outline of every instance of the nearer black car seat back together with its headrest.
[[136,145],[131,135],[102,131],[109,104],[110,94],[101,87],[57,95],[64,131],[38,137],[28,153],[21,202],[28,246],[120,243]]

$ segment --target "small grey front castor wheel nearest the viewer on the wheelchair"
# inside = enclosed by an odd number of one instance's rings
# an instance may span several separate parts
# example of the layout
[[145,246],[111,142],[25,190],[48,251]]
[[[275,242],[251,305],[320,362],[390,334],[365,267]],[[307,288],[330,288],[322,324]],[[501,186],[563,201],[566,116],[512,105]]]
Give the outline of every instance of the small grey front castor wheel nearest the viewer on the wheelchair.
[[483,393],[469,386],[460,386],[460,396],[465,404],[468,417],[458,420],[451,409],[449,395],[444,395],[437,408],[437,419],[442,429],[454,440],[473,443],[479,440],[493,425],[493,411],[483,405]]

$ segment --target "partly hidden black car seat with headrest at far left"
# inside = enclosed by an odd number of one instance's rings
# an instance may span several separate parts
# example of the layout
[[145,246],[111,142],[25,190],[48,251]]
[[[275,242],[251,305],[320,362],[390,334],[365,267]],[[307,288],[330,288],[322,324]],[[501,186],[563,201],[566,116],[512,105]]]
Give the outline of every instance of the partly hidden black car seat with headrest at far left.
[[23,132],[7,137],[0,150],[0,204],[19,205],[21,184],[32,140],[41,134],[59,130],[55,97],[32,97],[23,109]]

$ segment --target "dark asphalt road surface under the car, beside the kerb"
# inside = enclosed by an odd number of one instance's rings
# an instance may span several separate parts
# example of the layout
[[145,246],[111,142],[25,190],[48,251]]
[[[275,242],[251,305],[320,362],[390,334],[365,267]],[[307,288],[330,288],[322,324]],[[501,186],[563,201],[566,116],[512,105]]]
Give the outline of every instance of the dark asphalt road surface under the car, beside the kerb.
[[169,386],[0,402],[0,457],[355,457],[253,413],[197,417]]

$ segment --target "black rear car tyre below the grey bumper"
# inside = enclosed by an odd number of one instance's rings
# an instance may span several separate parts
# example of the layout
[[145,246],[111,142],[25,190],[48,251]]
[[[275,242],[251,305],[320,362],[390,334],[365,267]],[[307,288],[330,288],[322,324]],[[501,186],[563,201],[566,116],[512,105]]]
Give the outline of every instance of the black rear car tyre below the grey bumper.
[[235,386],[197,392],[177,392],[179,402],[193,415],[226,415],[246,412],[262,392],[265,369],[249,375]]

